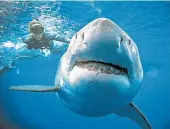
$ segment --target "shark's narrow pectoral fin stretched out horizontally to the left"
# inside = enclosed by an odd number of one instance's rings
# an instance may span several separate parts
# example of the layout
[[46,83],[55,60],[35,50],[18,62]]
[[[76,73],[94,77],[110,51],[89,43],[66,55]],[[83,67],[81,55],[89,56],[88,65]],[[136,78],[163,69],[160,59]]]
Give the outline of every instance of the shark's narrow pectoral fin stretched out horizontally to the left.
[[58,86],[25,85],[11,86],[9,89],[28,92],[57,92],[60,88]]

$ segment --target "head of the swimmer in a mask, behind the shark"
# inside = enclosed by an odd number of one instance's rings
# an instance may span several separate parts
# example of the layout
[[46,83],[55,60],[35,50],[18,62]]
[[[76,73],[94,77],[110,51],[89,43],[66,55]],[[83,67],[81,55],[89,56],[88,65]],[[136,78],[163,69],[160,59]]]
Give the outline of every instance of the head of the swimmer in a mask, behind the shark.
[[44,32],[43,25],[38,20],[33,20],[29,23],[28,29],[30,33],[41,34]]

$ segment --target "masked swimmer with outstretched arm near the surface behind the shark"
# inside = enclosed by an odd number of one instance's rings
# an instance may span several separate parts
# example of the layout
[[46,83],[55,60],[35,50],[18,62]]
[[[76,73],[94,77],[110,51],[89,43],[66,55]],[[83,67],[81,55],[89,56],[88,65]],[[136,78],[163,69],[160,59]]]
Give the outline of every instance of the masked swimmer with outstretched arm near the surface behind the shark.
[[60,41],[69,44],[70,40],[62,36],[55,35],[53,33],[46,33],[44,31],[43,25],[35,19],[31,21],[28,25],[28,30],[30,32],[29,36],[22,39],[24,43],[27,44],[28,49],[53,49],[53,40]]

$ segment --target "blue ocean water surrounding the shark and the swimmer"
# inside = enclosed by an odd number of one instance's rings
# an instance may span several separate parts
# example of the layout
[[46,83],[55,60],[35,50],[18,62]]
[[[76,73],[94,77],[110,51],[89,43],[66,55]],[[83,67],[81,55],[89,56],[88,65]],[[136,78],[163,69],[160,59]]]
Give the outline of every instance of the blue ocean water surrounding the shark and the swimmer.
[[[0,2],[0,44],[19,43],[28,23],[39,18],[49,31],[71,38],[90,21],[106,17],[136,42],[144,68],[142,88],[134,103],[154,129],[170,129],[170,2]],[[0,60],[14,58],[5,50]],[[20,60],[17,68],[0,75],[0,106],[10,121],[23,129],[138,129],[116,115],[78,116],[55,93],[14,92],[11,85],[53,85],[62,54]],[[8,61],[7,61],[8,62]],[[5,63],[4,63],[5,64]],[[1,122],[0,122],[1,123]]]

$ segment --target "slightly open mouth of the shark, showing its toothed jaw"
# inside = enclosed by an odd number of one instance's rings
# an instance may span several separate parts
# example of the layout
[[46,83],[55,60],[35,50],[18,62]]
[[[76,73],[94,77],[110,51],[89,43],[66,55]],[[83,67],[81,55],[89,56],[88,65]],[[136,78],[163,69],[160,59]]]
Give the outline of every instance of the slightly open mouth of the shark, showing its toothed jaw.
[[99,71],[100,73],[105,74],[114,74],[114,75],[124,75],[128,74],[127,68],[122,68],[118,65],[111,63],[105,63],[100,61],[76,61],[74,66],[79,68],[86,68],[89,71]]

